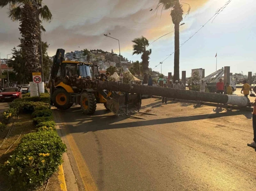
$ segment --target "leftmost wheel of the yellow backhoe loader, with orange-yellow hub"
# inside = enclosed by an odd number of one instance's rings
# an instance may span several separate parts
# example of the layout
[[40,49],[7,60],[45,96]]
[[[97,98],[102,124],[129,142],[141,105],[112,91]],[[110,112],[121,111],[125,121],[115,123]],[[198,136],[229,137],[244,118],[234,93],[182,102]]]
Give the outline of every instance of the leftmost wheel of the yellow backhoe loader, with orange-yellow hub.
[[53,92],[52,101],[54,106],[59,110],[67,110],[73,105],[73,103],[70,103],[69,93],[63,88],[59,88]]

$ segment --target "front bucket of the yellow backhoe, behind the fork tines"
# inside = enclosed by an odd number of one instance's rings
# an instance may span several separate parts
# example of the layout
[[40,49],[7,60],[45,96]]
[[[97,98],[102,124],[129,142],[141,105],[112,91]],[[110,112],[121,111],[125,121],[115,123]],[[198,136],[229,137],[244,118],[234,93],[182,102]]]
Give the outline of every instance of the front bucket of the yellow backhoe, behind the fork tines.
[[[126,108],[126,106],[128,107]],[[126,109],[127,113],[134,114],[138,112],[138,106],[141,106],[140,95],[128,93],[125,95],[118,94],[106,103],[106,107],[117,116],[125,116]]]

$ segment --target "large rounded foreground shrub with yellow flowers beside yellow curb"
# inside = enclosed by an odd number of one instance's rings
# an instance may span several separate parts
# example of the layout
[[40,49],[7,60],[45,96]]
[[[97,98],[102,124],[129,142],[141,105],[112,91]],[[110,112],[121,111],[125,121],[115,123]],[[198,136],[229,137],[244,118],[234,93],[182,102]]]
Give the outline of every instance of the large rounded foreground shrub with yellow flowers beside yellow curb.
[[65,144],[56,131],[26,134],[10,159],[1,165],[1,173],[19,190],[42,185],[62,162]]

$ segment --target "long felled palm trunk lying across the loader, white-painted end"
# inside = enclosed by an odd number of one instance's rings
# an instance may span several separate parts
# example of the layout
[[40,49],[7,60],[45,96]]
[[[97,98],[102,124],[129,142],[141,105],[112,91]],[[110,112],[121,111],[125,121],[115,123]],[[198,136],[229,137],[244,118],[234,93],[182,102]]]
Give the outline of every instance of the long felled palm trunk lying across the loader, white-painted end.
[[250,106],[250,101],[247,97],[238,95],[207,93],[166,87],[144,86],[138,84],[122,84],[120,82],[78,78],[77,76],[66,77],[62,79],[62,81],[67,85],[76,86],[78,88],[92,88],[97,90],[110,90],[144,95],[156,95],[167,98],[205,101],[242,107]]

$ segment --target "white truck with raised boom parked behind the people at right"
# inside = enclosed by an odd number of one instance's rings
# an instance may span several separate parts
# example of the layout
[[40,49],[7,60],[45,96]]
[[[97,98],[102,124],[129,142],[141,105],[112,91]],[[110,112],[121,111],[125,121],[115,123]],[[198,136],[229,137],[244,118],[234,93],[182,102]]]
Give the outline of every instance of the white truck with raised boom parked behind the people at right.
[[[221,69],[207,75],[205,78],[202,78],[202,80],[206,83],[207,88],[209,92],[215,93],[216,92],[216,84],[219,82],[220,78],[223,77],[224,74],[224,68],[222,67]],[[199,84],[200,82],[194,82],[195,84]],[[230,86],[232,87],[233,92],[236,91],[236,77],[230,76]],[[191,86],[189,86],[189,89]]]

